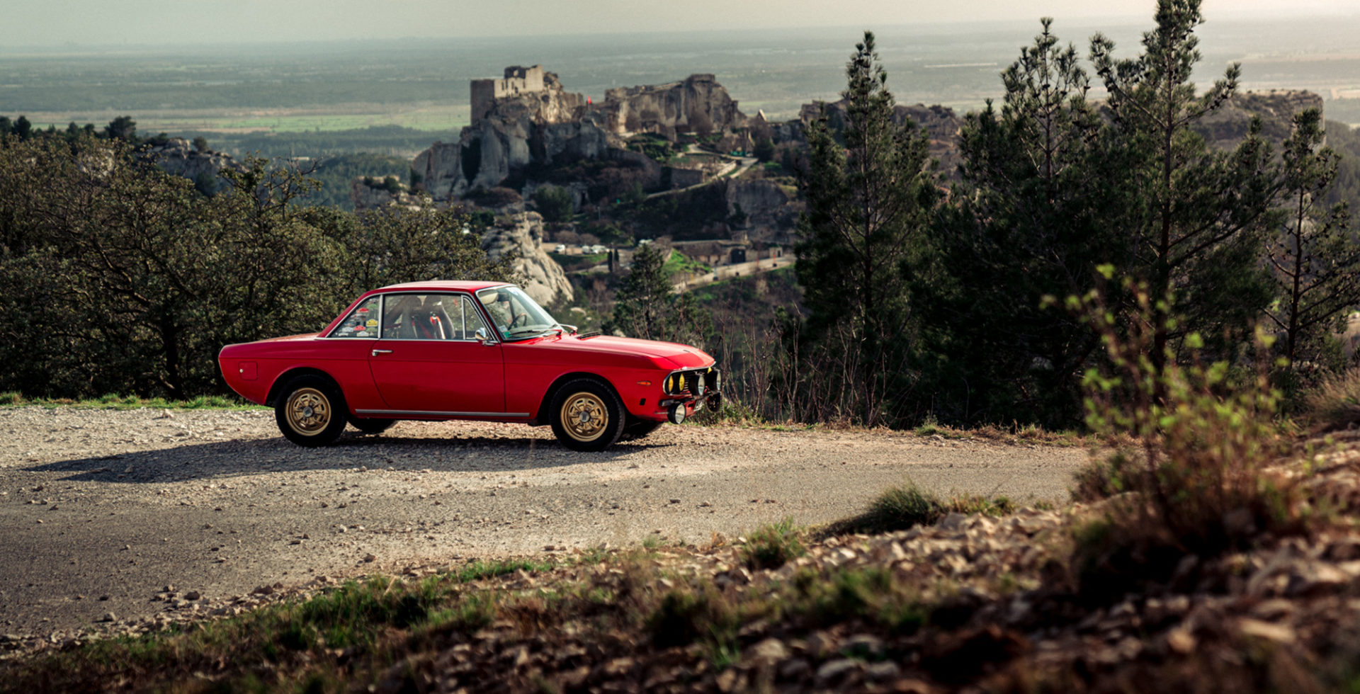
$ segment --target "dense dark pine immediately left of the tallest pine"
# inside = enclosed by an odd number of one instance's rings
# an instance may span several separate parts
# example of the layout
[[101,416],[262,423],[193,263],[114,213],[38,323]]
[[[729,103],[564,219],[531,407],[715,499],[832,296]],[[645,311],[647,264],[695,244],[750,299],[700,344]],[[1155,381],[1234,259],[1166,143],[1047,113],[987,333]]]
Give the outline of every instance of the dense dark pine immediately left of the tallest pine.
[[1098,339],[1043,298],[1085,295],[1098,264],[1127,264],[1110,223],[1123,167],[1085,99],[1077,50],[1051,22],[1001,73],[1000,112],[989,102],[964,120],[962,182],[930,234],[933,271],[917,275],[923,377],[941,419],[1078,423]]

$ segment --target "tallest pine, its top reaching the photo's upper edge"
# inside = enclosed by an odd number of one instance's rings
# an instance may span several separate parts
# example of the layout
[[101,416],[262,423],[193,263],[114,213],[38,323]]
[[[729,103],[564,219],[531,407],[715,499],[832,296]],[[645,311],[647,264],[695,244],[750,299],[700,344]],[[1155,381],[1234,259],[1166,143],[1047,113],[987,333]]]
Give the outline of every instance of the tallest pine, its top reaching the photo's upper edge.
[[[1114,133],[1133,176],[1123,223],[1136,252],[1129,272],[1157,299],[1148,355],[1157,373],[1191,332],[1216,342],[1210,352],[1229,354],[1270,301],[1259,249],[1278,186],[1259,121],[1231,152],[1210,151],[1193,131],[1236,93],[1240,75],[1232,64],[1195,94],[1200,4],[1157,0],[1157,26],[1144,33],[1137,59],[1117,60],[1112,41],[1091,39],[1091,61],[1110,93]],[[1171,320],[1166,299],[1172,294],[1183,320]]]

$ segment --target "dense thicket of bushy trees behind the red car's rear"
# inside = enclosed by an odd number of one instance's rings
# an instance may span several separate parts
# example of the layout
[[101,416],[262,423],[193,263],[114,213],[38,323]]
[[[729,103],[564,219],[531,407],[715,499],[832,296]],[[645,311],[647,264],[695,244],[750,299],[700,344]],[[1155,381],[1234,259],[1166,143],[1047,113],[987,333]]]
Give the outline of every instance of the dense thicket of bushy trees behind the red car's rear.
[[248,158],[204,197],[118,139],[0,148],[0,389],[220,392],[223,344],[306,333],[358,293],[509,279],[465,218],[302,204],[306,171]]

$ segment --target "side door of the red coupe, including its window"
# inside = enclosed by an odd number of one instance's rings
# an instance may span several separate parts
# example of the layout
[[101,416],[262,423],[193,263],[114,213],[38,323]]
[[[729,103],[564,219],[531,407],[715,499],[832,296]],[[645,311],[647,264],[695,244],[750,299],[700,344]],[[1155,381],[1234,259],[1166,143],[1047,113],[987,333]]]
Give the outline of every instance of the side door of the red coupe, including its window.
[[386,294],[382,302],[369,367],[388,410],[369,414],[506,416],[500,343],[468,295]]

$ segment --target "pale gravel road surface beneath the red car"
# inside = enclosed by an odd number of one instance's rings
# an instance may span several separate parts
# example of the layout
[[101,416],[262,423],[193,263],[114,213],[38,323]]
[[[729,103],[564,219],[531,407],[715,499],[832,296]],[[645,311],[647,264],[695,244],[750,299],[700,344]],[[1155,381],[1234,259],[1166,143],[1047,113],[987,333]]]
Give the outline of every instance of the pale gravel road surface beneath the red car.
[[[403,422],[335,446],[273,412],[0,410],[0,631],[76,629],[204,599],[473,557],[707,542],[842,518],[910,476],[1058,499],[1083,449],[885,431],[664,426],[604,453],[547,427]],[[551,548],[549,548],[551,547]]]

